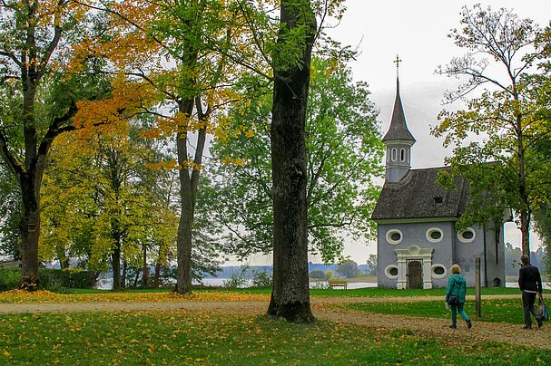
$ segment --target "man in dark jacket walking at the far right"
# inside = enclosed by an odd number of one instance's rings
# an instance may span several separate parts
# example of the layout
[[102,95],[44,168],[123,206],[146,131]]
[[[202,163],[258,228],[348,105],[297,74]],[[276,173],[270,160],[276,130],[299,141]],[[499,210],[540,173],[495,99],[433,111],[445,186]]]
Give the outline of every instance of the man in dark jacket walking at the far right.
[[536,315],[534,303],[536,302],[536,294],[542,296],[541,275],[536,265],[530,265],[530,257],[522,255],[520,257],[522,263],[518,271],[518,288],[522,291],[522,308],[524,310],[524,329],[532,329],[532,318],[530,313],[534,314],[537,326],[541,328],[544,324],[543,319]]

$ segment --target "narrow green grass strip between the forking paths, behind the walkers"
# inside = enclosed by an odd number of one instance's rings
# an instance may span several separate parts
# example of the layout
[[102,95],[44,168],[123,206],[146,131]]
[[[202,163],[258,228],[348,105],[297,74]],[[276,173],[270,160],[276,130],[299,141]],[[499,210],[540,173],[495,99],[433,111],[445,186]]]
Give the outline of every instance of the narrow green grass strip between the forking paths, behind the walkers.
[[[449,319],[451,316],[451,310],[446,309],[443,300],[441,302],[424,301],[417,303],[351,303],[339,307],[368,313],[423,316],[429,318]],[[475,320],[512,324],[524,323],[520,295],[518,299],[483,300],[480,309],[481,317],[477,318],[475,315],[475,302],[467,301],[465,303],[465,311]]]

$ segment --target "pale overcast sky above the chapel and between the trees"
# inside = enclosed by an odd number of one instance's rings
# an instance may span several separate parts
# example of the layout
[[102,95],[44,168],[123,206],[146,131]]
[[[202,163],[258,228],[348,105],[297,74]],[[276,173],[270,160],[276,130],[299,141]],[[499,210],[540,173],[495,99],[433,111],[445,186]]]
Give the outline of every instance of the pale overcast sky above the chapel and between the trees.
[[[551,1],[548,0],[348,0],[348,11],[342,22],[329,32],[341,43],[358,46],[359,56],[350,66],[355,80],[369,83],[371,99],[379,107],[383,134],[389,127],[394,103],[396,66],[393,61],[399,54],[402,60],[400,96],[409,130],[418,140],[412,149],[414,168],[442,166],[448,154],[441,141],[429,135],[429,129],[437,123],[438,112],[443,108],[443,93],[454,89],[457,81],[434,71],[438,65],[445,65],[452,57],[465,53],[453,44],[448,34],[459,25],[461,7],[472,7],[477,3],[484,7],[490,5],[493,9],[514,9],[520,17],[530,18],[541,27],[549,24],[551,19]],[[507,224],[506,240],[514,246],[520,245],[514,224]],[[536,236],[532,242],[538,245]],[[375,243],[367,246],[365,243],[350,243],[345,255],[361,264],[375,252]],[[311,259],[320,262],[319,258]],[[253,262],[259,260],[254,258]]]

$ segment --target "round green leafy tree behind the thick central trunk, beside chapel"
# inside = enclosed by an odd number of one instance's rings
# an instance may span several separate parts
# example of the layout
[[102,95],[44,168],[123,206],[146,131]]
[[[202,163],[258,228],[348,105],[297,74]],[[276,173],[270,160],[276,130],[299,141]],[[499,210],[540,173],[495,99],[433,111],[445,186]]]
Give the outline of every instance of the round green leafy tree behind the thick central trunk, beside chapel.
[[[382,145],[377,112],[363,82],[331,60],[314,58],[306,116],[307,205],[310,247],[325,263],[341,254],[343,237],[372,237],[370,212],[379,193]],[[271,252],[270,94],[233,110],[225,140],[209,169],[212,222],[229,232],[228,252],[242,257]]]

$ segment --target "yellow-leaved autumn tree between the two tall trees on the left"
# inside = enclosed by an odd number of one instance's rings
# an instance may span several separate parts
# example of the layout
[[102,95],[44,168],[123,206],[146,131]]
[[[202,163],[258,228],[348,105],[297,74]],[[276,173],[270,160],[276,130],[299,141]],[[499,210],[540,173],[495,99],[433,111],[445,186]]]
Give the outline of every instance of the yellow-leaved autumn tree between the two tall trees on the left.
[[151,259],[167,264],[177,223],[173,172],[156,167],[162,141],[144,139],[134,120],[117,127],[65,134],[54,144],[40,246],[41,259],[58,259],[62,268],[73,258],[99,273],[111,262],[113,290],[126,286],[131,267],[145,285]]

